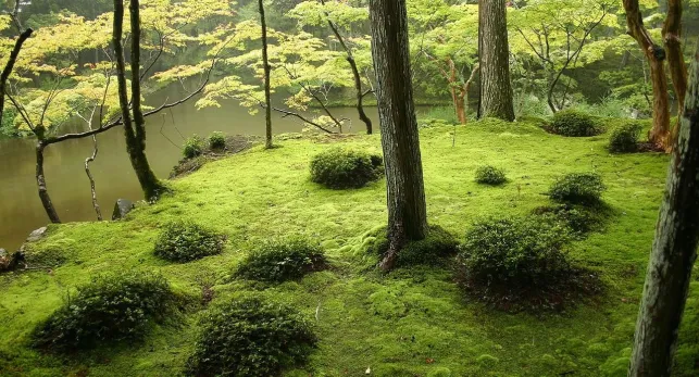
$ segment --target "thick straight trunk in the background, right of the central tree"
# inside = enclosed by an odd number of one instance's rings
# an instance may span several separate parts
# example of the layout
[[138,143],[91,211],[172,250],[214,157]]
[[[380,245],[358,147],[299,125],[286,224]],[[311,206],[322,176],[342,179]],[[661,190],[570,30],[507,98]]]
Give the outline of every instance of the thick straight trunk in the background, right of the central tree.
[[514,121],[505,2],[480,0],[480,116]]

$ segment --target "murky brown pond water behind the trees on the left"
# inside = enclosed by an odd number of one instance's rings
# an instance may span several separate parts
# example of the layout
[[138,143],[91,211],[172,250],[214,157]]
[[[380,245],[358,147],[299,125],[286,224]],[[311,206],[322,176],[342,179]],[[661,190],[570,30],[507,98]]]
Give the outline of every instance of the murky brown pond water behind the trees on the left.
[[[161,93],[149,100],[155,105],[166,97]],[[352,108],[335,109],[338,117],[352,122],[350,131],[361,131]],[[377,112],[370,109],[370,116],[378,128]],[[300,131],[298,121],[274,114],[274,133]],[[209,135],[221,130],[229,135],[264,135],[262,113],[250,115],[236,102],[223,103],[220,109],[196,110],[194,102],[185,103],[168,112],[148,118],[147,153],[159,177],[167,177],[180,159],[183,136]],[[180,136],[180,134],[183,136]],[[170,140],[168,140],[170,139]],[[97,193],[104,218],[111,218],[116,199],[140,200],[141,192],[125,151],[121,128],[98,136],[99,154],[90,165],[97,181]],[[177,146],[175,146],[175,144]],[[48,223],[48,217],[37,194],[35,180],[34,140],[0,140],[0,248],[16,250],[27,235]],[[46,175],[49,193],[63,222],[95,221],[90,188],[85,175],[85,159],[92,152],[92,140],[68,140],[46,150]]]

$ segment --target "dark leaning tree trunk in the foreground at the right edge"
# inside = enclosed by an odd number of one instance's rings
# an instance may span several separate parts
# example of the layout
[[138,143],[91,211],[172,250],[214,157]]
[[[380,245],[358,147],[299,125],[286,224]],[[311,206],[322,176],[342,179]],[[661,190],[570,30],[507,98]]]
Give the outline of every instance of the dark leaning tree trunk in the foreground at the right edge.
[[699,244],[699,45],[656,228],[628,375],[670,376]]

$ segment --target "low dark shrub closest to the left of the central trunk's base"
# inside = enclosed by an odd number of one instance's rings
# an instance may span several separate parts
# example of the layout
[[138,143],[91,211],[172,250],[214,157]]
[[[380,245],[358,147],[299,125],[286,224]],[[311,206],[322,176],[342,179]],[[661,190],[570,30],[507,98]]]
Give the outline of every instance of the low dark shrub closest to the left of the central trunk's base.
[[325,255],[320,246],[294,238],[262,243],[240,262],[236,276],[251,280],[282,282],[323,269]]

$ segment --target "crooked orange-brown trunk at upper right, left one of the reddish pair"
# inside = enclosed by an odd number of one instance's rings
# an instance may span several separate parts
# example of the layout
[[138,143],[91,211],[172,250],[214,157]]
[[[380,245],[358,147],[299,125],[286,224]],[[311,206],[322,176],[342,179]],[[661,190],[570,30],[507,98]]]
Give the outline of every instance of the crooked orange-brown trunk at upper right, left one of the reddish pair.
[[628,34],[636,39],[650,65],[650,77],[653,87],[653,127],[648,138],[650,142],[669,150],[670,142],[670,99],[667,97],[667,77],[665,77],[665,50],[656,45],[644,26],[638,0],[623,0],[626,10]]

